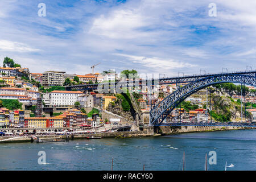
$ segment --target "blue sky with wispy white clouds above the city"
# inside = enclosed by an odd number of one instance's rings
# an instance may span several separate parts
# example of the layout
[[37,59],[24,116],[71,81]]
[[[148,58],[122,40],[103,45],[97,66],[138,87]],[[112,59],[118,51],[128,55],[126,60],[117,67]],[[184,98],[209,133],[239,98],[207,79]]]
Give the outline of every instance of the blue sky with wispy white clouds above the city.
[[1,0],[0,62],[77,75],[98,63],[166,76],[255,69],[255,10],[255,0]]

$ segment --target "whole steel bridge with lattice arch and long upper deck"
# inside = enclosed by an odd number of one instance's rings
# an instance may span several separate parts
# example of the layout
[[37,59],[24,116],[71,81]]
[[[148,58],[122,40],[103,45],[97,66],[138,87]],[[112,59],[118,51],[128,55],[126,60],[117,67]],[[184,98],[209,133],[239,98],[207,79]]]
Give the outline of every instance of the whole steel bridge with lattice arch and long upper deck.
[[[182,84],[189,83],[175,92],[170,94],[168,97],[164,98],[158,105],[151,108],[150,111],[150,125],[159,126],[162,124],[163,120],[168,114],[175,108],[175,105],[179,105],[180,102],[185,100],[185,98],[191,96],[191,94],[206,88],[210,85],[220,84],[224,82],[234,82],[240,84],[247,84],[251,86],[256,86],[256,71],[241,71],[241,72],[226,72],[226,73],[212,73],[212,74],[200,74],[200,75],[190,75],[190,76],[179,76],[179,77],[168,77],[159,78],[153,80],[135,80],[135,81],[125,81],[125,82],[106,82],[102,84],[87,84],[87,85],[75,85],[67,86],[67,90],[109,90],[133,86],[154,86],[154,85],[164,85],[164,84]],[[99,89],[100,88],[100,89]]]

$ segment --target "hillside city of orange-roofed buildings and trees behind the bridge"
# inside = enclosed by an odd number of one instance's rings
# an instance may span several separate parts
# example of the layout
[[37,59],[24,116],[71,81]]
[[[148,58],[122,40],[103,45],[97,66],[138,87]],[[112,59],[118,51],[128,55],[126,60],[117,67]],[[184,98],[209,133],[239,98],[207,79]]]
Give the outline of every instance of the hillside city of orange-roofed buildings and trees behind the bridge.
[[[0,67],[0,128],[92,129],[104,126],[106,129],[106,125],[148,125],[150,107],[185,85],[157,85],[157,92],[152,94],[147,87],[139,88],[137,93],[65,89],[71,85],[120,81],[123,75],[128,77],[130,73],[138,76],[135,70],[116,73],[110,69],[94,73],[95,66],[92,66],[92,73],[84,75],[60,71],[32,73],[29,68],[22,68],[5,57]],[[256,89],[234,84],[202,89],[176,106],[164,122],[174,121],[256,121]]]

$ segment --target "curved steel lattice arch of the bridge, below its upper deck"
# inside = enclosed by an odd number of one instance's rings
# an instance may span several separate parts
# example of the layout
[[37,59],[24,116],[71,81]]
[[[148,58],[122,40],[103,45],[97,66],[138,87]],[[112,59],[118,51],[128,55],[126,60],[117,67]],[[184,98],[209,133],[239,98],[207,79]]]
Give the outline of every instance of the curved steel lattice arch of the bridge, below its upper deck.
[[206,88],[210,85],[221,84],[225,82],[233,82],[238,84],[246,84],[256,86],[256,75],[216,75],[201,78],[191,82],[188,85],[181,87],[169,96],[159,102],[154,108],[150,110],[150,125],[160,125],[163,120],[175,109],[175,105],[179,105],[185,98],[191,96],[191,94]]

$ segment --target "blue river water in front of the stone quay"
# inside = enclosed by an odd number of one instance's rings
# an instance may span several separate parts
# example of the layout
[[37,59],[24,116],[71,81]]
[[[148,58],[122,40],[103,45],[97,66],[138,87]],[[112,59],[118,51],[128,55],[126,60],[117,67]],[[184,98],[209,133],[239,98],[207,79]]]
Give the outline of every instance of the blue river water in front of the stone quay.
[[[38,164],[39,151],[46,163]],[[0,144],[0,170],[204,170],[205,154],[216,152],[209,170],[256,170],[256,130],[187,133],[164,137]],[[208,160],[210,155],[208,155]]]

